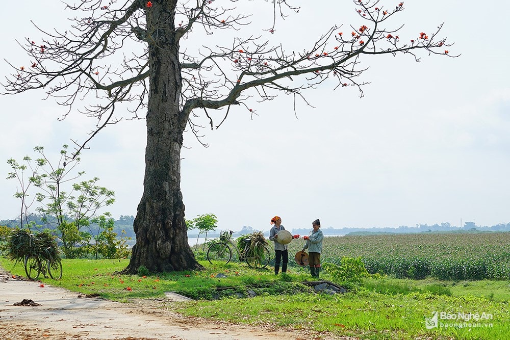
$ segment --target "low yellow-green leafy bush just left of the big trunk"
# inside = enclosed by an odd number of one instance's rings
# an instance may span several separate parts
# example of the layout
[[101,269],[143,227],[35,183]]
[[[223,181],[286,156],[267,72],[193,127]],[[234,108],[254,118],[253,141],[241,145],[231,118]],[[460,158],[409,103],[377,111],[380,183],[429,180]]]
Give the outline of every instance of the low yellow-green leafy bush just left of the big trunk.
[[92,253],[97,259],[98,256],[104,258],[122,258],[127,257],[130,254],[130,250],[127,247],[127,241],[131,240],[129,237],[125,237],[125,231],[122,230],[120,239],[117,237],[118,234],[114,232],[115,221],[111,218],[109,213],[101,215],[92,220],[92,223],[98,225],[97,233],[94,233],[89,228],[94,244],[91,245]]

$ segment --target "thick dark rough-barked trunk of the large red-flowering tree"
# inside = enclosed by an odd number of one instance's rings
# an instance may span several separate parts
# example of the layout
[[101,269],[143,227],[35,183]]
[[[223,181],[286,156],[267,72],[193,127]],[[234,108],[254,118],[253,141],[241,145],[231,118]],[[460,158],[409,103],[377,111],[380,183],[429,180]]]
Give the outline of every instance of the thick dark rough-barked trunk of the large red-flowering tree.
[[[165,25],[152,22],[153,18]],[[151,272],[202,268],[188,245],[184,221],[181,147],[187,117],[179,107],[182,80],[173,22],[174,12],[163,8],[147,16],[147,31],[152,30],[157,45],[149,44],[145,177],[133,225],[136,244],[122,273],[136,273],[140,266]]]

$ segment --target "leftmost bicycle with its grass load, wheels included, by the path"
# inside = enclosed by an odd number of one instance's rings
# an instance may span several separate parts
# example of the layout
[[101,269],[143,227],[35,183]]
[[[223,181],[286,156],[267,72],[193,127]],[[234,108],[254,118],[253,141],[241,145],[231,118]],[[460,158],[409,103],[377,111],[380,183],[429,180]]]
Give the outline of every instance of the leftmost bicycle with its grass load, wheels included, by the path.
[[16,228],[9,236],[8,256],[16,263],[23,262],[27,276],[35,280],[40,273],[58,280],[62,277],[62,263],[55,237],[47,231],[33,234]]

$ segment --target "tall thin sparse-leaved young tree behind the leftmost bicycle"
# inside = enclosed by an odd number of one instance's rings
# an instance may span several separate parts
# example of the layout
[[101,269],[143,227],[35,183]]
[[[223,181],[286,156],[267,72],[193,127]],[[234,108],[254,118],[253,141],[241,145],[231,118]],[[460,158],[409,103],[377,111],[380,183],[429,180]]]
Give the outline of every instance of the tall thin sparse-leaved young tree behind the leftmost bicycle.
[[[27,193],[33,185],[40,190],[35,195],[35,201],[39,203],[36,211],[44,216],[45,223],[56,224],[54,232],[62,244],[63,254],[69,258],[84,255],[89,249],[91,235],[83,229],[90,225],[90,219],[96,216],[99,208],[113,204],[115,193],[98,186],[97,177],[75,182],[85,172],[73,171],[80,158],[71,158],[67,145],[60,150],[56,164],[49,161],[44,147],[37,146],[34,151],[38,153],[35,165],[29,156],[23,158],[27,165],[19,165],[13,159],[8,161],[13,169],[8,178],[18,178],[21,185],[21,191],[17,190],[15,196],[21,199],[22,216],[28,215],[28,207],[34,202],[28,200]],[[23,171],[27,169],[31,169],[31,175],[25,179]]]

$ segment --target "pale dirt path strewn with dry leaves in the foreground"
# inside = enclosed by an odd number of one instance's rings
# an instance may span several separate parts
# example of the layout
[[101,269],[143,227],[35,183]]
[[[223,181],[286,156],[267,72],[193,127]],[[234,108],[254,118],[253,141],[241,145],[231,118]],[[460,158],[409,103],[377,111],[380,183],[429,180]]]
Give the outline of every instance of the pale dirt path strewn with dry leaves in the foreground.
[[[40,306],[14,306],[23,299]],[[26,339],[333,339],[325,334],[263,329],[184,318],[160,308],[168,300],[117,303],[40,282],[0,268],[0,338]],[[347,339],[345,337],[344,339]],[[352,338],[351,338],[352,339]]]

